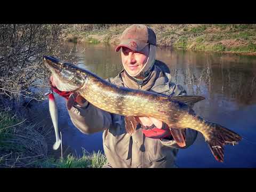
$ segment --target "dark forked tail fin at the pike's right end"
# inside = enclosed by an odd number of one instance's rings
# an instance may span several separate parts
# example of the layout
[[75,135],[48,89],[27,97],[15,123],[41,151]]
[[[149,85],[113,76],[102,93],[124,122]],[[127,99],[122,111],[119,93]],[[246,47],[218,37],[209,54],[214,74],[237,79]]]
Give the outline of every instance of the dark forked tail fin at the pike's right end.
[[235,145],[241,141],[242,137],[237,133],[223,127],[219,124],[213,124],[215,127],[214,137],[211,140],[208,140],[207,143],[210,147],[210,150],[214,158],[219,161],[224,161],[224,148],[226,144]]

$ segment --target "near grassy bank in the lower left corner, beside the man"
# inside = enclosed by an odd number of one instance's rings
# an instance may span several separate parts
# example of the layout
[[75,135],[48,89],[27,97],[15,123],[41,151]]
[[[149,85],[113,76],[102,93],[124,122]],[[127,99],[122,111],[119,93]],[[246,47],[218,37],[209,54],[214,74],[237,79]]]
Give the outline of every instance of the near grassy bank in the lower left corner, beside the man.
[[30,125],[10,111],[0,111],[0,167],[102,167],[106,157],[84,150],[82,157],[68,154],[63,159],[53,158],[47,150],[44,127]]

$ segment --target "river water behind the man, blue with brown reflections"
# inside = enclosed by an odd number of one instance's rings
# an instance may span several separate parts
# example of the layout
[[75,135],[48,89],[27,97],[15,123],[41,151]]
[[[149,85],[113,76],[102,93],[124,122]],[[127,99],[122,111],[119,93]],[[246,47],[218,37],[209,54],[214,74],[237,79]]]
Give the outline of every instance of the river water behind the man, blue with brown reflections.
[[[74,62],[102,78],[114,77],[122,70],[121,56],[114,46],[65,43],[59,51],[61,59]],[[189,95],[206,98],[194,106],[198,115],[228,127],[244,138],[235,147],[225,146],[225,162],[219,163],[199,133],[192,146],[179,150],[177,165],[256,167],[256,57],[158,47],[156,59],[166,63],[172,81],[185,87]],[[82,154],[82,148],[89,153],[103,152],[102,132],[82,134],[70,121],[65,99],[57,94],[55,98],[63,145],[69,146],[77,155]],[[36,122],[52,126],[47,100],[33,105],[29,113]]]

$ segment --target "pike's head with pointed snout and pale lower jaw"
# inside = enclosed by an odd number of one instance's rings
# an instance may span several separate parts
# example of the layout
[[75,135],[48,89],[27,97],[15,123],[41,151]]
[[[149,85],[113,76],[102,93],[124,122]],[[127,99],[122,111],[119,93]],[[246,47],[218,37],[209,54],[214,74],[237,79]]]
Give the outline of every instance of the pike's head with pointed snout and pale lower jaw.
[[59,59],[44,56],[44,65],[52,72],[54,83],[60,91],[75,91],[87,82],[85,73],[77,66],[61,62]]

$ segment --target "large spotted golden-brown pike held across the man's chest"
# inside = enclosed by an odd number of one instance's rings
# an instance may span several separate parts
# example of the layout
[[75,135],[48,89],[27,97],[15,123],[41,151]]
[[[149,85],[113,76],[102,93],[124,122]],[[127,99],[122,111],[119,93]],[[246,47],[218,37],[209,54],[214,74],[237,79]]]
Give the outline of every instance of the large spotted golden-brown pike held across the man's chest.
[[[44,56],[44,64],[57,79],[57,88],[60,91],[79,93],[102,110],[126,117],[154,117],[166,123],[171,130],[190,128],[201,132],[219,162],[224,160],[223,146],[235,145],[242,139],[226,127],[206,121],[195,114],[192,107],[194,103],[204,99],[201,96],[167,97],[148,91],[127,89],[54,57]],[[133,133],[135,128],[133,126],[127,132]]]

